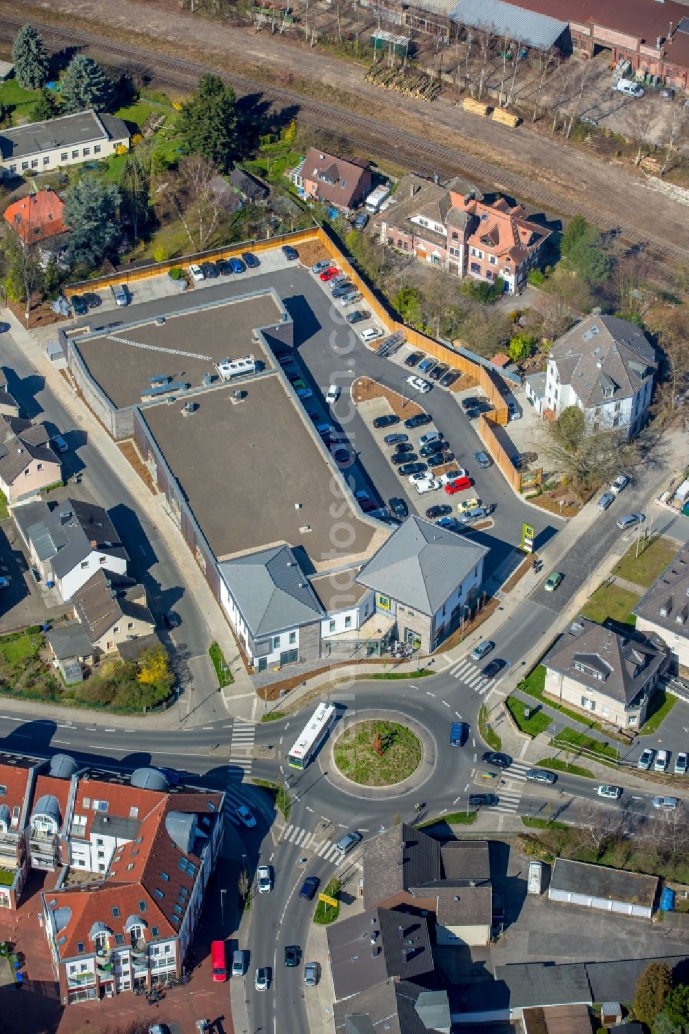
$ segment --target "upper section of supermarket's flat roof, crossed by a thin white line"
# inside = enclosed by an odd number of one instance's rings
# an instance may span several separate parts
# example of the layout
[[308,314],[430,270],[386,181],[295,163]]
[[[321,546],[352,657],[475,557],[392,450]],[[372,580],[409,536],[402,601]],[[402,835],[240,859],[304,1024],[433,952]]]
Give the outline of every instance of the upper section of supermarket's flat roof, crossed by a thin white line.
[[[269,367],[269,355],[253,341],[252,331],[277,324],[281,315],[274,296],[264,292],[196,311],[166,315],[163,324],[151,318],[130,327],[113,327],[102,334],[79,338],[74,345],[113,405],[123,408],[141,402],[142,391],[151,387],[150,377],[170,376],[200,388],[205,373],[213,374],[217,381],[213,364],[221,359],[253,355]],[[137,347],[137,344],[152,347]]]

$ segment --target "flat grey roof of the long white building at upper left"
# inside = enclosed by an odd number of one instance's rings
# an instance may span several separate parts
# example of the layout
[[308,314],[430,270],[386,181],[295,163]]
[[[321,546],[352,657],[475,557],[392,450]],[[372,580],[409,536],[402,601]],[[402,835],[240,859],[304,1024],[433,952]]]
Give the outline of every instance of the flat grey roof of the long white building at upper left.
[[59,147],[77,147],[99,140],[128,138],[129,130],[122,119],[113,115],[96,115],[94,111],[77,112],[46,122],[0,131],[0,154],[3,160],[26,158],[41,151]]

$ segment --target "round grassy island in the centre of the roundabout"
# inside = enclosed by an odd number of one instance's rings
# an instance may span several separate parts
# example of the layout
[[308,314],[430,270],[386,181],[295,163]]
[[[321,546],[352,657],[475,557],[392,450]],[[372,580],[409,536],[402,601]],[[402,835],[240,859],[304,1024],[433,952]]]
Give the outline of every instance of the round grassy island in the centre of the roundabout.
[[338,770],[361,786],[394,786],[421,764],[421,741],[396,722],[357,722],[335,740]]

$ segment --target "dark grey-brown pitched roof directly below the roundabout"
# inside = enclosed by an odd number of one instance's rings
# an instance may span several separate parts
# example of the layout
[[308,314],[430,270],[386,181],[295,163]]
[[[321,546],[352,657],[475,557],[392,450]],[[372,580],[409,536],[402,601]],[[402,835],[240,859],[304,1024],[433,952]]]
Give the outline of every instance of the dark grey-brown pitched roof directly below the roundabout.
[[364,907],[441,878],[440,845],[402,822],[364,841]]

